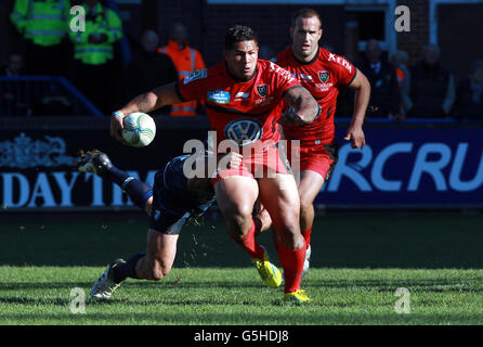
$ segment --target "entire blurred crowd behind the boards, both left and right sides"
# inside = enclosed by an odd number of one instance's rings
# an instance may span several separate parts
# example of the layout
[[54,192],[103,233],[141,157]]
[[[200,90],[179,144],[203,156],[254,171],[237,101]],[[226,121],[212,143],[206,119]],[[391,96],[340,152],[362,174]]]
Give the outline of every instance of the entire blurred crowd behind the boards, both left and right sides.
[[[205,68],[199,51],[188,44],[187,28],[182,23],[173,25],[165,46],[154,30],[129,41],[114,1],[87,0],[80,4],[83,23],[79,22],[80,12],[70,13],[70,0],[16,0],[10,18],[22,44],[10,51],[0,76],[64,76],[101,113],[109,115],[146,90]],[[261,44],[261,59],[275,53]],[[421,48],[418,63],[408,66],[409,61],[404,51],[388,56],[379,41],[366,42],[363,59],[353,62],[371,85],[366,118],[483,119],[483,61],[475,61],[469,76],[460,81],[455,81],[452,72],[442,65],[435,44]],[[3,105],[10,105],[0,115],[39,113],[32,112],[31,100],[23,91],[28,83],[12,87],[0,81],[0,87]],[[51,107],[43,113],[69,112],[69,102],[65,95],[49,95],[42,104],[50,103]],[[337,115],[350,117],[352,102],[350,90],[341,92]],[[187,102],[157,114],[193,116],[203,112],[203,105]]]

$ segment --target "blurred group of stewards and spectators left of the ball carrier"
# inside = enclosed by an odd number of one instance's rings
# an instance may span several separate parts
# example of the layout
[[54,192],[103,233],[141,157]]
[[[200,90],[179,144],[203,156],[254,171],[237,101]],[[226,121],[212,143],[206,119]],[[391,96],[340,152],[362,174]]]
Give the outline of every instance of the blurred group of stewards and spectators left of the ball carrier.
[[[73,98],[58,89],[39,95],[38,90],[45,89],[38,82],[42,76],[65,77],[78,91],[76,98],[84,97],[110,115],[142,92],[205,68],[201,54],[187,43],[185,25],[172,26],[166,46],[159,44],[154,30],[128,39],[114,1],[87,0],[71,8],[70,0],[16,0],[10,20],[19,42],[0,73],[11,77],[0,81],[3,116],[73,111]],[[37,79],[22,79],[27,76]],[[196,102],[188,102],[157,113],[193,116],[200,111]]]

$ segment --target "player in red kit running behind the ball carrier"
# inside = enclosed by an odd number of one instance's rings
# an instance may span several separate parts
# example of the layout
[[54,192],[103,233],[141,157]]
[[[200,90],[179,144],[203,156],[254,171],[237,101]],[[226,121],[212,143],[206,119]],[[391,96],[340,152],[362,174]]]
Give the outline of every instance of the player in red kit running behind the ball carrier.
[[[296,12],[290,27],[292,44],[278,53],[275,60],[311,92],[322,111],[321,116],[309,125],[283,127],[288,158],[291,164],[299,160],[297,165],[300,166],[300,228],[309,248],[308,256],[314,221],[313,202],[337,163],[334,115],[339,88],[355,90],[352,121],[344,137],[352,142],[353,149],[363,149],[366,143],[362,127],[370,97],[370,85],[361,70],[344,57],[318,46],[323,34],[321,26],[316,11],[302,9]],[[300,140],[300,146],[292,149],[290,140]],[[306,260],[304,272],[308,266]]]

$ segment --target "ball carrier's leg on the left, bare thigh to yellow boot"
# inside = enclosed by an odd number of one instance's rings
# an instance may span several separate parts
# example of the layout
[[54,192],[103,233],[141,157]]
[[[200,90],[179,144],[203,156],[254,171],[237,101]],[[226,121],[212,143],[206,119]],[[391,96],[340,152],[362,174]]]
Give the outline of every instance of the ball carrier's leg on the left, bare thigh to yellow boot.
[[270,262],[263,246],[254,239],[253,205],[259,194],[258,183],[251,177],[230,176],[214,185],[218,205],[226,219],[229,235],[250,256],[263,282],[276,288],[282,273]]

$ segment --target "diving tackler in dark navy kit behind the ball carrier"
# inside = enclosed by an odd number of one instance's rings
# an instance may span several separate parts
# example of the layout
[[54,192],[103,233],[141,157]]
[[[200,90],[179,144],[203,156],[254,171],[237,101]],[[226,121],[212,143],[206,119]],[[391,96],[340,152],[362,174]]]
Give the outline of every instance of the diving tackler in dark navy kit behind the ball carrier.
[[[208,160],[208,155],[197,159]],[[226,159],[232,168],[237,168],[241,160],[237,153],[227,154]],[[135,254],[127,261],[114,260],[95,281],[91,298],[109,298],[127,278],[159,281],[169,273],[182,227],[190,219],[203,215],[214,202],[209,178],[187,179],[184,176],[185,163],[193,162],[195,166],[199,163],[191,155],[174,157],[156,172],[154,187],[151,187],[118,169],[105,153],[94,150],[80,157],[79,171],[92,172],[116,183],[149,215],[146,253]],[[203,167],[208,168],[208,165]]]

